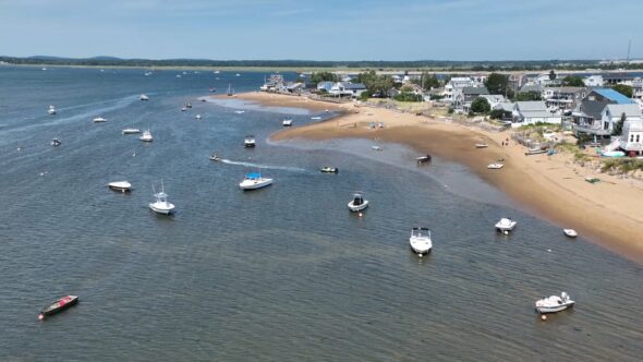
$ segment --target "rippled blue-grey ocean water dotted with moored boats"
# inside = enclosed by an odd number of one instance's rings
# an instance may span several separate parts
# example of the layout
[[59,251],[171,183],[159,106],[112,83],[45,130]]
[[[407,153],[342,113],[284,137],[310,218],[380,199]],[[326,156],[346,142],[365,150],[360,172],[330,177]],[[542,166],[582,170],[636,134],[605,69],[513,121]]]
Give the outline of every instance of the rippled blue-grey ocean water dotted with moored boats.
[[[642,266],[566,239],[458,165],[417,169],[411,150],[369,141],[270,144],[283,112],[295,125],[316,114],[197,101],[264,73],[143,73],[0,68],[0,360],[643,355]],[[275,184],[240,191],[255,167]],[[106,188],[123,179],[131,194]],[[147,208],[161,179],[173,217]],[[371,201],[363,218],[345,206],[355,190]],[[509,237],[493,229],[506,215],[519,221]],[[427,257],[409,249],[413,226],[433,230]],[[539,321],[534,301],[561,290],[577,306]],[[68,293],[81,303],[37,321]]]

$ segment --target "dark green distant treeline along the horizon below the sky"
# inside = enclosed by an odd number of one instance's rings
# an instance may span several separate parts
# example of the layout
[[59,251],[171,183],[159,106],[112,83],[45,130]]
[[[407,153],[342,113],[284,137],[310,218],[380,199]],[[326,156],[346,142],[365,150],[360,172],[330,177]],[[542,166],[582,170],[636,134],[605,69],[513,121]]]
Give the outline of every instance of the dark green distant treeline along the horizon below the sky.
[[452,71],[537,71],[549,69],[641,69],[641,64],[599,64],[597,60],[534,60],[534,61],[312,61],[312,60],[207,60],[207,59],[120,59],[96,57],[85,59],[57,57],[0,57],[11,64],[87,65],[87,67],[211,67],[211,68],[338,68],[338,69],[407,69],[407,70],[452,70]]

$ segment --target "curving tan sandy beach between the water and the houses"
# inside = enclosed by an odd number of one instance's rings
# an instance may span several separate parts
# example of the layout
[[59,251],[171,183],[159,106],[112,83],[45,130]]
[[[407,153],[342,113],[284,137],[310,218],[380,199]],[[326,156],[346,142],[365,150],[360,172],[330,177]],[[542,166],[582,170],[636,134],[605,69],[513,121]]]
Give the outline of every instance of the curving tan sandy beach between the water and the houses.
[[[573,164],[570,154],[525,156],[525,148],[514,142],[501,146],[502,141],[510,137],[510,131],[487,132],[359,104],[336,105],[263,93],[238,97],[265,106],[341,110],[340,117],[280,131],[272,140],[362,137],[404,144],[417,149],[418,155],[429,153],[465,165],[530,214],[553,221],[561,229],[573,228],[581,237],[643,263],[643,239],[639,233],[643,225],[643,182],[640,180],[594,173],[595,170]],[[384,122],[385,128],[371,129],[371,122]],[[488,148],[474,147],[482,140]],[[505,159],[505,167],[488,170],[487,165],[499,158]],[[597,176],[602,181],[589,183],[586,176]]]

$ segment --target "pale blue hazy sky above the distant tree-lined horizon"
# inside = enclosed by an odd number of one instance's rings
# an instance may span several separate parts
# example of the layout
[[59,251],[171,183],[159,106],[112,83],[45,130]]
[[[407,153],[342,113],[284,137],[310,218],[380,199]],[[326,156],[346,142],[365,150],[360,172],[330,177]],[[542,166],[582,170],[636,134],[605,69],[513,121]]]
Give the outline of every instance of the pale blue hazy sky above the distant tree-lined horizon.
[[642,0],[0,0],[0,55],[643,58]]

